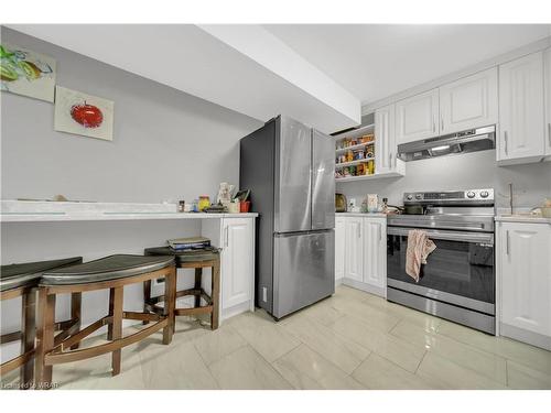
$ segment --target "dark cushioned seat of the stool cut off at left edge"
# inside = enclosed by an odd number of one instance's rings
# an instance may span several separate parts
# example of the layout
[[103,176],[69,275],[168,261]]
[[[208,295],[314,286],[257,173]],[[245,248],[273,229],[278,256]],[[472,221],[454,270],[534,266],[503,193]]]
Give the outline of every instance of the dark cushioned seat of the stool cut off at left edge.
[[44,271],[64,265],[78,264],[80,262],[83,262],[82,257],[73,257],[62,260],[2,265],[0,270],[0,291],[17,289],[19,286],[37,285]]

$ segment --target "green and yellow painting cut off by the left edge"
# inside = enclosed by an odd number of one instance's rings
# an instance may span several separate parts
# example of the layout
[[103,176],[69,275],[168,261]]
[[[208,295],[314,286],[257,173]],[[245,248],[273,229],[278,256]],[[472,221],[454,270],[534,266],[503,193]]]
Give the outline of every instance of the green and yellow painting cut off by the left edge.
[[0,44],[1,89],[54,101],[55,59],[24,47]]

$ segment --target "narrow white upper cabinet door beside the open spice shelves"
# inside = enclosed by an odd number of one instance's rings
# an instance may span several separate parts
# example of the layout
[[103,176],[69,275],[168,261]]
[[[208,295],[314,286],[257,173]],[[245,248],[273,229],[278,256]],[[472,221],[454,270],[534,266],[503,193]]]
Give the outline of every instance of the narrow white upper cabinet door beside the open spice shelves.
[[397,152],[395,105],[390,105],[375,111],[375,170],[378,174],[396,169]]

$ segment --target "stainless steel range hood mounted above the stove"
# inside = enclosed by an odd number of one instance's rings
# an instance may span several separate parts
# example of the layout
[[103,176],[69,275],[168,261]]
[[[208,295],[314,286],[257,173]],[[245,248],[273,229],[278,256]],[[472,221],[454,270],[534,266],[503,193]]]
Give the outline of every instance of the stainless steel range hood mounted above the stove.
[[398,157],[418,161],[428,157],[457,155],[496,148],[496,126],[469,129],[443,137],[424,139],[398,145]]

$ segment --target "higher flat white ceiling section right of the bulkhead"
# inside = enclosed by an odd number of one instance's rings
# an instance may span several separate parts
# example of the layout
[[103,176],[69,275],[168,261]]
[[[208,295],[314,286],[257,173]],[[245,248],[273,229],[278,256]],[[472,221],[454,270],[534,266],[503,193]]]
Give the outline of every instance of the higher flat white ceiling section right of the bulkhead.
[[278,24],[264,29],[374,102],[551,35],[533,24]]

